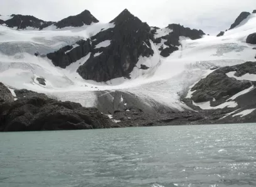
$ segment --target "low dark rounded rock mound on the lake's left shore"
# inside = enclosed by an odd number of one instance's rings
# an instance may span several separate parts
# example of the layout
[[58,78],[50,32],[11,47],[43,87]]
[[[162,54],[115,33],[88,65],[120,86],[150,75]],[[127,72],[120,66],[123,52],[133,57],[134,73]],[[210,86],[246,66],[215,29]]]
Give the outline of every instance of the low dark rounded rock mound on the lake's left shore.
[[[33,92],[32,92],[33,93]],[[0,104],[0,131],[109,128],[96,108],[45,97],[26,97]]]

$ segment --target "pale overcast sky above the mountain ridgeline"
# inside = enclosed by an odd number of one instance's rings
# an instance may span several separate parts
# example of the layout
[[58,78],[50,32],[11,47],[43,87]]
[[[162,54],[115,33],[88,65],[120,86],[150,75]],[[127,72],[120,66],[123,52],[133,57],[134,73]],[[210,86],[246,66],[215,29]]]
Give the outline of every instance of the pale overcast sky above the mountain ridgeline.
[[242,12],[256,9],[256,0],[0,0],[0,14],[33,15],[58,21],[88,9],[101,22],[109,22],[123,9],[150,26],[180,23],[216,34],[228,29]]

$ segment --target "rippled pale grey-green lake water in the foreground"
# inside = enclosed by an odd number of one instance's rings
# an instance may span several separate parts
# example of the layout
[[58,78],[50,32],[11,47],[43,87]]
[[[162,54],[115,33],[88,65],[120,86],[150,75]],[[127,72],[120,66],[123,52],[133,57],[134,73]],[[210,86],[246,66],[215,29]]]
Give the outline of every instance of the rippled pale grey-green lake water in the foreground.
[[2,187],[256,186],[256,124],[0,133]]

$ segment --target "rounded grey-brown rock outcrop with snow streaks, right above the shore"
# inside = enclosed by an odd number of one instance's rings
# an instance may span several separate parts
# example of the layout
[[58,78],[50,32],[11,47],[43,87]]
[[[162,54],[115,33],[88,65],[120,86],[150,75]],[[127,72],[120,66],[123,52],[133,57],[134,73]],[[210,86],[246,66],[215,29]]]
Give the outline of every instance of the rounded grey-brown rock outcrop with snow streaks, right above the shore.
[[[226,74],[230,71],[237,71],[235,76],[243,76],[246,73],[256,74],[256,62],[247,62],[236,66],[227,66],[219,68],[213,73],[209,74],[205,79],[201,79],[191,91],[193,93],[191,99],[195,103],[205,101],[213,101],[215,104],[220,104],[226,101],[233,95],[250,88],[254,83],[251,81],[240,81],[235,78],[229,78]],[[214,103],[211,103],[214,104]]]

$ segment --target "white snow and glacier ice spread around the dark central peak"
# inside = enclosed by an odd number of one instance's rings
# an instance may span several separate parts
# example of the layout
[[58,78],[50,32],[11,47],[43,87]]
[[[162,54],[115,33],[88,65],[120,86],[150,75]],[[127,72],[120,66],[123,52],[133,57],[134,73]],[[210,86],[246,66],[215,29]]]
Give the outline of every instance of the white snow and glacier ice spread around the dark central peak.
[[[256,33],[256,16],[252,14],[240,26],[227,31],[224,36],[204,36],[191,40],[181,38],[182,46],[168,58],[159,55],[159,44],[151,42],[154,55],[150,58],[141,56],[131,73],[131,79],[117,78],[106,83],[87,81],[76,72],[82,63],[86,63],[90,54],[66,69],[55,67],[48,58],[36,57],[34,54],[47,54],[63,46],[73,45],[80,39],[87,39],[101,29],[113,28],[114,24],[95,23],[81,28],[56,29],[49,27],[42,31],[35,29],[16,30],[0,26],[0,81],[13,89],[31,89],[33,91],[55,95],[62,101],[75,101],[83,106],[95,106],[97,91],[121,90],[136,94],[145,103],[157,101],[166,106],[183,110],[187,106],[179,97],[189,90],[189,86],[211,73],[214,66],[232,66],[246,61],[255,61],[253,45],[245,43],[248,34]],[[171,32],[159,29],[155,37]],[[164,43],[164,41],[162,41]],[[109,46],[104,41],[97,48]],[[99,54],[95,54],[97,56]],[[149,67],[139,69],[141,64]],[[233,76],[232,73],[229,76]],[[46,86],[38,83],[36,78],[44,78]],[[245,75],[240,79],[255,80],[255,75]],[[252,88],[250,88],[251,90]],[[248,90],[247,90],[248,91]],[[244,91],[246,93],[247,91]],[[188,98],[191,97],[191,92]],[[223,106],[235,106],[234,101],[227,101]],[[198,104],[209,108],[210,103]],[[241,115],[247,114],[241,113]]]

